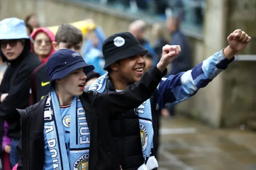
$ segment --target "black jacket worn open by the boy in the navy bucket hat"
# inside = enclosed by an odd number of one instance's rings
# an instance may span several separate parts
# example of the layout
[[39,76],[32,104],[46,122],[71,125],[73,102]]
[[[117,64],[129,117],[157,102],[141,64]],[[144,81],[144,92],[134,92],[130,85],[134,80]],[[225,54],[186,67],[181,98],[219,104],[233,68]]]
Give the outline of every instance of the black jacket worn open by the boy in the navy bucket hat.
[[[90,110],[93,92],[83,93],[81,102],[86,111],[86,120],[91,135],[90,170],[120,170],[108,117],[110,114],[114,116],[129,111],[146,101],[166,72],[167,70],[163,74],[155,67],[147,71],[140,81],[128,86],[125,91],[98,93],[92,112]],[[18,170],[42,170],[43,168],[46,97],[25,109],[26,119],[22,119],[21,122],[22,138],[18,144],[18,153],[21,157]]]

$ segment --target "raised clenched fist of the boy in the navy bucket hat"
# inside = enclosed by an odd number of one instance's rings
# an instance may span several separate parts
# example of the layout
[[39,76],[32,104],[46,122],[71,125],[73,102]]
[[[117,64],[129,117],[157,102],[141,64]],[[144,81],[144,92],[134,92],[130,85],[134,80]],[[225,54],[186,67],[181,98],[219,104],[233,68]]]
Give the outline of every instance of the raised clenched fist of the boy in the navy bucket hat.
[[180,54],[180,45],[165,45],[162,51],[162,57],[156,67],[163,72],[174,58]]

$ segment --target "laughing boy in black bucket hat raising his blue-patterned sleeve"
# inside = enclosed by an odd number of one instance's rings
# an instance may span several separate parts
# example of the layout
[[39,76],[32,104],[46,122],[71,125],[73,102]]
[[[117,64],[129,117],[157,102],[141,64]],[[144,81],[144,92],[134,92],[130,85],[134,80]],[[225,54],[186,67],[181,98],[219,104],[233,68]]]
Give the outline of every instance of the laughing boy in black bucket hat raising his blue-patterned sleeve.
[[[235,30],[228,36],[228,47],[187,72],[163,78],[151,97],[138,108],[110,117],[110,130],[123,170],[152,170],[158,167],[154,157],[159,128],[156,115],[167,103],[178,104],[195,95],[225,70],[234,60],[234,55],[246,47],[250,40],[245,32]],[[170,49],[176,48],[179,46],[165,45],[162,57]],[[99,77],[88,89],[100,93],[122,91],[139,81],[144,74],[144,55],[147,51],[129,32],[108,37],[102,46],[104,69],[108,73]]]

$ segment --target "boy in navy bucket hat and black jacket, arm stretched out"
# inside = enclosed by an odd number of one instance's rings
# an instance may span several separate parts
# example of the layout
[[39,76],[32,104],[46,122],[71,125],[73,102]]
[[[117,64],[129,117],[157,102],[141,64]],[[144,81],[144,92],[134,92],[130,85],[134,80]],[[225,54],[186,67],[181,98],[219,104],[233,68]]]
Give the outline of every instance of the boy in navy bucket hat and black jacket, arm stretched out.
[[18,110],[22,117],[18,170],[120,170],[108,119],[148,99],[174,56],[171,51],[126,90],[103,94],[84,92],[86,74],[94,66],[80,53],[56,51],[47,62],[50,93]]

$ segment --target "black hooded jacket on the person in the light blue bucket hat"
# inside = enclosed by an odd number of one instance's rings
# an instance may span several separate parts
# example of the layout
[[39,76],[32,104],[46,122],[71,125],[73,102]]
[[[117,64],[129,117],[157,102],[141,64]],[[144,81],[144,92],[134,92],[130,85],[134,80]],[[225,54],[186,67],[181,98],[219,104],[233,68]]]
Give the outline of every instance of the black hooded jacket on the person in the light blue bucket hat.
[[[2,56],[6,61],[6,57],[3,54]],[[30,40],[27,39],[20,56],[8,63],[0,85],[0,94],[8,93],[8,96],[0,104],[0,117],[9,125],[8,136],[19,139],[20,115],[16,108],[25,109],[29,106],[30,76],[41,62],[34,53],[30,52]]]

